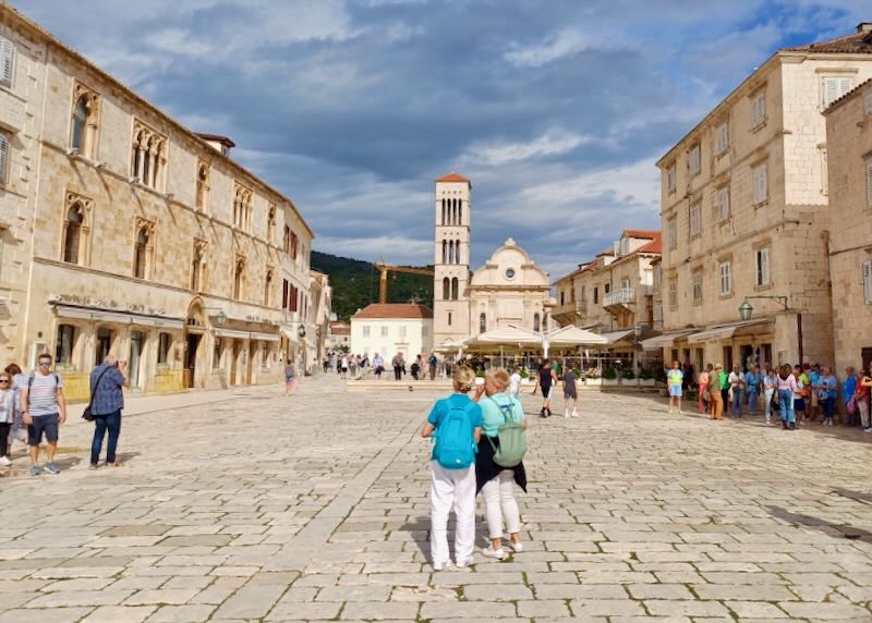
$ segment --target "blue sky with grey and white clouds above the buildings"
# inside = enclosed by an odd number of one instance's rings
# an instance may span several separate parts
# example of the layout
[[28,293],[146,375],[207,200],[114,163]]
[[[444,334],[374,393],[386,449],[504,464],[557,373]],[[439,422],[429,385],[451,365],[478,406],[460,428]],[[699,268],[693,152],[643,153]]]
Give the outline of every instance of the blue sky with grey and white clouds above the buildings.
[[869,0],[11,3],[233,138],[315,248],[433,261],[433,180],[456,170],[473,264],[513,236],[553,278],[659,227],[654,162],[773,51],[872,21]]

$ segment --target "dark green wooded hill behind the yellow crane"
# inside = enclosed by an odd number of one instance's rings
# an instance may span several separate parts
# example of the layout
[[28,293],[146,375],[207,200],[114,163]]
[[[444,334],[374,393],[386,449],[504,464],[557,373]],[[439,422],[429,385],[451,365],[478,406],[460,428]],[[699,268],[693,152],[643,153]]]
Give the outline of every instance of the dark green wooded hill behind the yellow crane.
[[[433,266],[414,267],[428,268]],[[378,271],[368,261],[312,252],[312,269],[330,277],[334,313],[348,321],[370,303],[378,303]],[[433,278],[422,274],[388,273],[388,303],[422,303],[433,307]]]

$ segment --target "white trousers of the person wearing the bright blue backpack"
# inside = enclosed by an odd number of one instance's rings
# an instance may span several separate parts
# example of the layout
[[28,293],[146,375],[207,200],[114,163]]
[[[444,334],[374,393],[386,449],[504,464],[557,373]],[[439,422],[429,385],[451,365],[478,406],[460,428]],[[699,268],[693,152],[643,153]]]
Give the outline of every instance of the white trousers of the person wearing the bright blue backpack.
[[455,510],[455,560],[472,560],[475,545],[475,465],[467,469],[446,469],[432,461],[429,486],[429,553],[434,564],[451,560],[448,551],[448,515]]

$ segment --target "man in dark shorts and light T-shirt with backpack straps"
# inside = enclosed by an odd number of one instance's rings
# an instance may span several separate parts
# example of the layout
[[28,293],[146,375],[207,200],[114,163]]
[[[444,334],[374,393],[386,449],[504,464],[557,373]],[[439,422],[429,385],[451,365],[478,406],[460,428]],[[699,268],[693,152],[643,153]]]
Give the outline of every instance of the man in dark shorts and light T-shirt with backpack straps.
[[[38,367],[27,379],[21,391],[21,410],[27,425],[27,445],[31,454],[31,476],[39,476],[45,471],[60,473],[55,463],[58,450],[58,426],[66,422],[66,401],[63,398],[63,381],[51,371],[51,355],[43,353],[37,359]],[[39,467],[39,443],[46,438],[48,461]]]

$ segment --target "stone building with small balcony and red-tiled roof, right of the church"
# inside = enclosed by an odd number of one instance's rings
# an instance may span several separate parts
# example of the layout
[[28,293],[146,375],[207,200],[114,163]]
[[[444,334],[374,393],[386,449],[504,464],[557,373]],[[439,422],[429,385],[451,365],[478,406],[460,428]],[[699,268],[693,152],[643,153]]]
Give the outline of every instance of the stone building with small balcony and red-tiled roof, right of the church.
[[611,248],[555,282],[554,319],[603,334],[616,358],[630,358],[654,322],[653,264],[661,251],[659,231],[625,230]]

